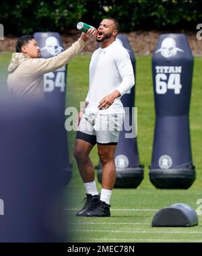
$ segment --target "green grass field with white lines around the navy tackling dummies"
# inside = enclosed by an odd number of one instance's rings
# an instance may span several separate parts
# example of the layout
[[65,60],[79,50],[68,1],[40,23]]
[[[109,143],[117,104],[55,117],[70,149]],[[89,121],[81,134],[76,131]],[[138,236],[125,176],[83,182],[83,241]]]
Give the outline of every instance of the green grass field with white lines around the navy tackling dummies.
[[[5,88],[6,67],[11,53],[0,53],[1,89]],[[79,55],[69,63],[67,106],[79,108],[88,92],[88,65],[90,55]],[[68,133],[69,154],[73,164],[73,177],[67,193],[71,200],[65,201],[65,213],[69,216],[67,231],[73,242],[202,242],[201,215],[199,226],[192,228],[151,228],[151,219],[161,207],[172,203],[187,203],[197,210],[197,200],[202,198],[202,57],[195,57],[193,89],[191,97],[190,125],[193,163],[197,179],[188,190],[160,190],[149,181],[148,166],[151,164],[154,135],[154,95],[151,77],[151,56],[136,56],[136,98],[138,108],[138,148],[144,179],[137,189],[114,189],[111,199],[110,218],[76,218],[75,212],[82,206],[85,195],[73,158],[75,132]],[[4,89],[3,89],[4,90]],[[1,92],[1,90],[0,90]],[[98,164],[96,147],[91,153],[92,162]],[[98,184],[100,191],[101,187]]]

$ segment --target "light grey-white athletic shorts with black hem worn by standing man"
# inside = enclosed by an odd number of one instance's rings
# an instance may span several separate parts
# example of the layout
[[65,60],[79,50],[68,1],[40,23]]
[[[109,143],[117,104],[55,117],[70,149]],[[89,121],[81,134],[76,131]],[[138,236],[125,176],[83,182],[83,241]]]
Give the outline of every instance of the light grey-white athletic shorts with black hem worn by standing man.
[[82,139],[92,145],[116,145],[119,141],[119,132],[123,130],[125,114],[93,114],[83,113],[76,139]]

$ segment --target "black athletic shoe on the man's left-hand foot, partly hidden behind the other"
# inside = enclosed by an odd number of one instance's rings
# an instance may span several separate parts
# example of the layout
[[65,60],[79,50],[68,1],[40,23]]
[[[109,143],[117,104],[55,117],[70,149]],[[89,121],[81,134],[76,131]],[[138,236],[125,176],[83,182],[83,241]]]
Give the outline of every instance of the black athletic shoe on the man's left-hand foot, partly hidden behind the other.
[[[86,197],[83,199],[83,201],[84,201],[83,208],[79,212],[77,212],[76,216],[86,216],[87,212],[94,210],[100,201],[100,194],[99,195],[86,194]],[[81,201],[81,203],[83,203],[83,201]]]

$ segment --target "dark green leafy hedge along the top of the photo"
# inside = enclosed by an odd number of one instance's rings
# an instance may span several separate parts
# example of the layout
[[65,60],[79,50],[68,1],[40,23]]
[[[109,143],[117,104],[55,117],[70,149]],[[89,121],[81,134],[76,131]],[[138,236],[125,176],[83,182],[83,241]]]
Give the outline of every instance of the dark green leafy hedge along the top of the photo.
[[75,29],[85,21],[98,27],[100,20],[119,20],[121,30],[193,30],[202,18],[199,0],[13,0],[1,1],[0,23],[5,34]]

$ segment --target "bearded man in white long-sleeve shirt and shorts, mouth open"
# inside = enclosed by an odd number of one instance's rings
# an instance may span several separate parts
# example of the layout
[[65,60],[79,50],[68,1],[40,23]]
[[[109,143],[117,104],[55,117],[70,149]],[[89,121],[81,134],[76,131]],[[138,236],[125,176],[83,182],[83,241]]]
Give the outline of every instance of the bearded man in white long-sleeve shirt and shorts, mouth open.
[[[116,41],[118,32],[116,20],[107,18],[100,23],[96,40],[101,47],[92,55],[86,105],[77,120],[74,155],[86,189],[86,203],[77,216],[110,216],[110,196],[116,181],[114,152],[125,115],[121,96],[135,84],[129,53]],[[102,162],[101,194],[89,157],[96,143]]]

